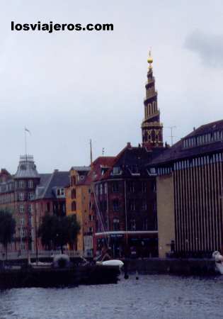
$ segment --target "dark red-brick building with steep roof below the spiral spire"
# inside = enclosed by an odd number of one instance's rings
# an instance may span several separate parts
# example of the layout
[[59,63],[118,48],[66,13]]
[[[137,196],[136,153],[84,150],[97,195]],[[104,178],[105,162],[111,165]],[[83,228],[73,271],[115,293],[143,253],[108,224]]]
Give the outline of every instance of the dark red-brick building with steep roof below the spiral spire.
[[130,247],[138,254],[158,254],[156,179],[146,165],[159,152],[127,143],[112,167],[94,181],[96,250],[106,242],[116,257]]

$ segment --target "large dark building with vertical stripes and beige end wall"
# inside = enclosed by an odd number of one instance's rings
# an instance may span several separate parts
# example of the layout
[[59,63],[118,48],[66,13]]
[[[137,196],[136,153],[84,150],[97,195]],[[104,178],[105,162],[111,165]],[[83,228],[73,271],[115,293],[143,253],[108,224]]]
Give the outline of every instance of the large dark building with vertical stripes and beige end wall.
[[157,157],[159,256],[223,248],[223,121],[200,126]]

